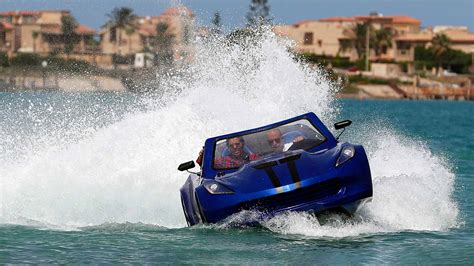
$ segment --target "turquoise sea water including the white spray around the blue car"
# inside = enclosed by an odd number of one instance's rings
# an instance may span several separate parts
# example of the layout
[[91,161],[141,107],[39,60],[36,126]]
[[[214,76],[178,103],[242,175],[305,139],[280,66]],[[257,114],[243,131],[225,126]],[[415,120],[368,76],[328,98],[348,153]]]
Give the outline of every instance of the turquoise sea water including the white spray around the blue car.
[[[472,263],[474,104],[337,100],[290,45],[203,41],[160,94],[0,93],[0,263]],[[186,227],[176,168],[206,137],[307,111],[367,150],[355,219]]]

